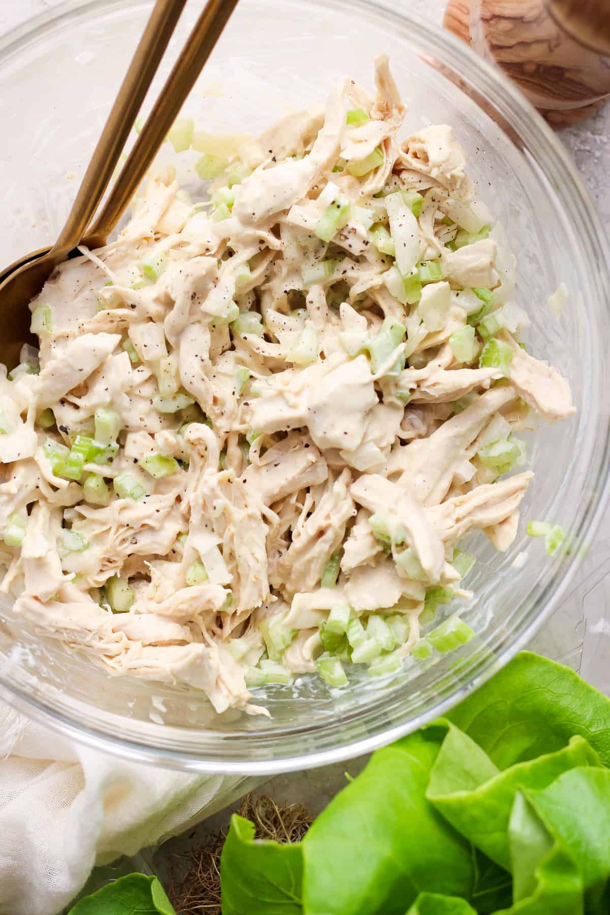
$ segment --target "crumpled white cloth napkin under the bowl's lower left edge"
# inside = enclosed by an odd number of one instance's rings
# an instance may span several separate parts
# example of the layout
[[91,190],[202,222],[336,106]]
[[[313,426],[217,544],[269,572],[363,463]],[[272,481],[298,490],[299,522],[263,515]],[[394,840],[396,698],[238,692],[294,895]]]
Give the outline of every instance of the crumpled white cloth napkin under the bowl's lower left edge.
[[56,915],[95,865],[181,832],[247,783],[123,762],[0,703],[0,915]]

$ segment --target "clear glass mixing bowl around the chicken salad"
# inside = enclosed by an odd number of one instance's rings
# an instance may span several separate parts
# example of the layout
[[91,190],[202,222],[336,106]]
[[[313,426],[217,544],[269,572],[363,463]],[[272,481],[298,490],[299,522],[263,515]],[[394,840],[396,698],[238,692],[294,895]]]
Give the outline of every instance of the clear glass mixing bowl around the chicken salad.
[[[171,58],[198,15],[190,0]],[[5,192],[0,263],[52,242],[148,15],[150,0],[72,0],[0,45],[0,152]],[[407,106],[405,131],[448,123],[470,156],[482,199],[519,259],[529,349],[570,378],[578,413],[531,436],[537,479],[525,519],[550,519],[579,549],[550,559],[524,536],[497,554],[483,536],[465,617],[478,638],[412,662],[390,682],[326,688],[316,677],[269,689],[272,717],[215,716],[205,697],[116,678],[78,652],[23,631],[0,608],[0,695],[37,720],[131,759],[177,769],[261,775],[367,752],[457,703],[522,647],[569,593],[607,490],[610,264],[594,208],[562,145],[497,70],[393,0],[241,0],[185,112],[207,130],[256,132],[290,108],[323,101],[344,74],[370,85],[387,51]],[[163,156],[167,156],[164,151]],[[192,160],[178,171],[193,180]],[[547,297],[564,282],[559,318]],[[519,570],[515,557],[527,551]],[[152,697],[158,697],[162,704]],[[159,710],[161,709],[161,711]],[[163,710],[165,709],[165,711]]]

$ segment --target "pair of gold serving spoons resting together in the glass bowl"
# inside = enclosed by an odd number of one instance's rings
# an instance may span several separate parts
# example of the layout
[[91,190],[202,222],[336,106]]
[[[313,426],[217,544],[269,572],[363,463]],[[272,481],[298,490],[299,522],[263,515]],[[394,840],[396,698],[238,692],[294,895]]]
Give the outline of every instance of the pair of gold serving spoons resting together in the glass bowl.
[[23,343],[32,340],[29,302],[40,292],[55,267],[67,260],[78,244],[99,248],[106,243],[187,100],[237,2],[209,0],[202,10],[102,211],[83,237],[186,4],[186,0],[157,0],[57,242],[52,247],[26,254],[0,272],[2,361],[8,368],[13,368],[19,361]]

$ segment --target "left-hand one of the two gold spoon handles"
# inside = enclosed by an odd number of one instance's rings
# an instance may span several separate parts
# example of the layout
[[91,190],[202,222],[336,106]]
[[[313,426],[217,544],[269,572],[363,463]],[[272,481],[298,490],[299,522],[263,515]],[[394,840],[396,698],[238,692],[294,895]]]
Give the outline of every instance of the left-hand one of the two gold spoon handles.
[[79,244],[98,208],[186,2],[187,0],[156,0],[123,85],[91,156],[91,162],[72,204],[68,220],[53,245],[51,255],[58,263]]

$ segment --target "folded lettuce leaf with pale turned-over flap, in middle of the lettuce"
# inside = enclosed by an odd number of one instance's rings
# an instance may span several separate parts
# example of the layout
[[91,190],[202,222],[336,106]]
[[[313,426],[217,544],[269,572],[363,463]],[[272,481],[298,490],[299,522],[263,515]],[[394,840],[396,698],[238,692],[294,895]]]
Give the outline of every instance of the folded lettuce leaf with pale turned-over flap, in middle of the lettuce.
[[510,870],[508,822],[516,792],[546,788],[562,772],[581,766],[601,762],[583,737],[573,737],[556,753],[498,772],[470,737],[452,727],[434,762],[426,797],[476,848]]

